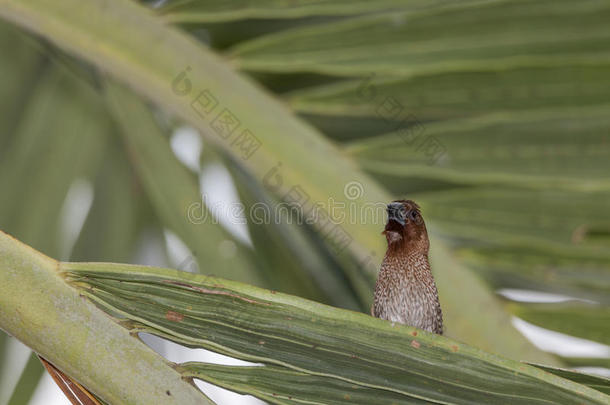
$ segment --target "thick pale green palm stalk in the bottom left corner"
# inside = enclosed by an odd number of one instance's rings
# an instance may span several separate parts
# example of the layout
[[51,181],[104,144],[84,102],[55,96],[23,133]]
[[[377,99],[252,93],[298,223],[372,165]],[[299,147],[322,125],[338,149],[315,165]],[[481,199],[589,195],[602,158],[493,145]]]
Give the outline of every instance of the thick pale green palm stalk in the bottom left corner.
[[108,403],[213,404],[67,285],[59,267],[0,232],[0,329]]

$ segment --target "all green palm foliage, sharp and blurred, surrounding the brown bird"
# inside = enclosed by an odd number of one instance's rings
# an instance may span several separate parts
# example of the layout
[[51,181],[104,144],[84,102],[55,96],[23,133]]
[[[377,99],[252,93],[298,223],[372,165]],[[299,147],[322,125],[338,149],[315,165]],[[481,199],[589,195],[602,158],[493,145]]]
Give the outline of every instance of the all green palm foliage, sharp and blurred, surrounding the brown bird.
[[[78,262],[3,234],[1,329],[108,403],[211,403],[193,378],[281,404],[607,402],[607,380],[553,368],[607,359],[551,355],[511,318],[608,344],[610,3],[147,3],[0,0],[0,229]],[[287,204],[301,222],[248,217],[250,246],[211,220],[170,147],[184,125],[246,210]],[[448,338],[345,310],[368,313],[383,218],[331,202],[405,195]],[[137,261],[168,232],[200,274],[82,263]],[[505,288],[571,299],[507,303]],[[169,364],[144,331],[263,365]]]

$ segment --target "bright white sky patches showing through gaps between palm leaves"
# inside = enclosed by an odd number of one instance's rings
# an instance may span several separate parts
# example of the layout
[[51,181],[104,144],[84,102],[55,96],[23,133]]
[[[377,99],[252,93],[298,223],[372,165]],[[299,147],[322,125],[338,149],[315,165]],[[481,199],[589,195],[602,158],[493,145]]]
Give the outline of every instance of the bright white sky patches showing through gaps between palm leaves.
[[[172,136],[171,146],[178,159],[185,166],[199,174],[201,192],[206,194],[206,198],[213,196],[206,200],[206,204],[213,205],[219,202],[230,203],[239,201],[230,175],[223,166],[211,164],[210,166],[201,167],[199,158],[203,145],[201,137],[194,129],[188,127],[177,129]],[[72,247],[78,238],[94,198],[93,187],[88,181],[78,180],[70,188],[61,218],[63,224],[61,235],[64,244],[63,258],[70,256]],[[218,215],[218,220],[239,242],[246,246],[251,246],[250,235],[246,225],[236,223],[241,221],[235,221],[227,215],[223,216],[222,213]],[[165,240],[155,240],[149,235],[142,235],[138,252],[134,256],[134,262],[176,267],[191,254],[186,245],[176,235],[171,232],[165,232],[164,236]],[[165,256],[161,253],[164,248],[167,248],[171,263],[165,262]],[[499,291],[499,293],[507,299],[521,302],[563,302],[572,299],[572,297],[563,295],[514,289],[504,289]],[[610,346],[539,328],[518,318],[513,318],[512,323],[540,349],[566,357],[610,358]],[[152,335],[146,335],[142,338],[158,353],[175,362],[204,361],[231,365],[251,364],[203,349],[185,348]],[[30,350],[27,347],[11,339],[8,358],[2,362],[3,364],[0,364],[0,367],[10,367],[11,373],[8,374],[12,378],[5,378],[4,381],[0,381],[0,405],[7,403],[12,386],[19,378],[29,353]],[[583,371],[597,372],[610,376],[610,370],[603,368],[591,368]],[[3,373],[3,375],[7,376],[7,373]],[[198,383],[198,386],[218,405],[264,404],[264,402],[255,398],[234,394],[210,384]],[[37,387],[30,404],[70,405],[69,401],[47,373],[45,373]]]

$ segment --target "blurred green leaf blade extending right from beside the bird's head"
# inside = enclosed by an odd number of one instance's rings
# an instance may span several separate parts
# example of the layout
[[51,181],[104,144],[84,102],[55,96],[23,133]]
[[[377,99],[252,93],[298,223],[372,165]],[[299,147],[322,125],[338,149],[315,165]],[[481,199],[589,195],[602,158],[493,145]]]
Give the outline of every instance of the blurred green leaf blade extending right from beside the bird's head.
[[[607,244],[589,237],[608,229],[610,193],[480,187],[421,194],[434,223],[462,238],[529,244],[608,257]],[[569,213],[569,215],[566,215]]]

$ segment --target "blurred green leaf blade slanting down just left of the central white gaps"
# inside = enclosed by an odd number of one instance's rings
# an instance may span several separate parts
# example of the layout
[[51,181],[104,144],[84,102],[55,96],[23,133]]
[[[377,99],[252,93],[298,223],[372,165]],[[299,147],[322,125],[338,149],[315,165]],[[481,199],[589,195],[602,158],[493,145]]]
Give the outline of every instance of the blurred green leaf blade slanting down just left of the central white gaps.
[[174,156],[148,107],[118,85],[108,84],[106,93],[157,215],[194,252],[199,268],[223,269],[225,277],[262,285],[263,279],[248,263],[245,249],[236,249],[228,257],[220,253],[220,244],[231,237],[214,220],[196,177]]

